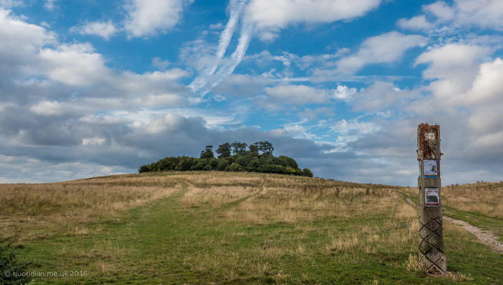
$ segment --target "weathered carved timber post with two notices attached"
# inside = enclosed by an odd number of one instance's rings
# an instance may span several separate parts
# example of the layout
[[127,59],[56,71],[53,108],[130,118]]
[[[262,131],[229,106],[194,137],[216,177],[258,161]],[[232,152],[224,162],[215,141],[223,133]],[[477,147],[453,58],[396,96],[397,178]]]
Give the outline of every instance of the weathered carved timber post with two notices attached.
[[421,176],[419,187],[419,262],[432,274],[446,274],[443,208],[440,198],[440,126],[417,127],[417,160]]

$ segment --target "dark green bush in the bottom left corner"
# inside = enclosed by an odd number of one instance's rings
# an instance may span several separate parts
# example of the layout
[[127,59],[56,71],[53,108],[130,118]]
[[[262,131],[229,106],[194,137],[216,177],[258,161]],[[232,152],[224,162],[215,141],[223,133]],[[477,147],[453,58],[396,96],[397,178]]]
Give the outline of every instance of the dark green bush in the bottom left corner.
[[[17,285],[25,284],[30,281],[30,276],[14,276],[14,272],[21,273],[30,271],[31,262],[21,261],[9,250],[10,244],[6,240],[0,240],[0,284]],[[5,272],[11,274],[6,276]]]

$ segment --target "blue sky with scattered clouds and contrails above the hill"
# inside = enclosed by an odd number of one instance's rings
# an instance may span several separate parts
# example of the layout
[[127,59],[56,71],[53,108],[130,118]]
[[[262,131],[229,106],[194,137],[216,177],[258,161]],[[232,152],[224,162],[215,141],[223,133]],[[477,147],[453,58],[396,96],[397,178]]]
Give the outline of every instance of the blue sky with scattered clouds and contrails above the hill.
[[314,176],[503,180],[500,0],[0,0],[0,183],[268,140]]

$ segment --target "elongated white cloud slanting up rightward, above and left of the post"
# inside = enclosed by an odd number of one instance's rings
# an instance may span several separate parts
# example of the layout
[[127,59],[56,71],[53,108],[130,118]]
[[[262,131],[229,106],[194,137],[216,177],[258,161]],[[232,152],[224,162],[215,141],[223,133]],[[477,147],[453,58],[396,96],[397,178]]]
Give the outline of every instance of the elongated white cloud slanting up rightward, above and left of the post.
[[366,39],[357,53],[338,61],[337,70],[352,74],[367,64],[392,63],[401,59],[403,53],[415,46],[426,46],[428,38],[420,35],[404,35],[389,32]]

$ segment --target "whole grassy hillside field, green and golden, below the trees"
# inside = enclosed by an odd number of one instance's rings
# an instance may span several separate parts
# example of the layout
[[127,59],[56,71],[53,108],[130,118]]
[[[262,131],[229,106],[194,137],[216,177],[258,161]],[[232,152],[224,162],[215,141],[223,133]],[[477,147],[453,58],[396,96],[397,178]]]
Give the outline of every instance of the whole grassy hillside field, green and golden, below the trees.
[[[477,200],[493,208],[471,208],[456,187],[443,188],[452,218],[503,233],[500,192]],[[492,189],[470,191],[480,187]],[[405,201],[417,188],[161,172],[2,184],[0,195],[0,233],[17,255],[68,275],[36,284],[503,283],[503,256],[449,222],[449,276],[418,266],[417,209]]]

